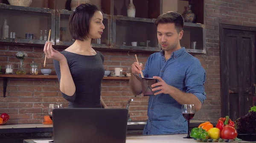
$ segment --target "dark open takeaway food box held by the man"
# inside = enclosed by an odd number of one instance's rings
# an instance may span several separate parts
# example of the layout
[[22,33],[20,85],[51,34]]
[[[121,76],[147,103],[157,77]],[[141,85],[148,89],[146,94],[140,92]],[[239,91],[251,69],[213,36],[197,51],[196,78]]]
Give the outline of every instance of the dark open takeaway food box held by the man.
[[135,73],[132,73],[140,82],[142,87],[142,93],[144,96],[154,95],[154,92],[152,91],[153,88],[151,87],[152,84],[157,83],[157,79],[154,78],[141,78]]

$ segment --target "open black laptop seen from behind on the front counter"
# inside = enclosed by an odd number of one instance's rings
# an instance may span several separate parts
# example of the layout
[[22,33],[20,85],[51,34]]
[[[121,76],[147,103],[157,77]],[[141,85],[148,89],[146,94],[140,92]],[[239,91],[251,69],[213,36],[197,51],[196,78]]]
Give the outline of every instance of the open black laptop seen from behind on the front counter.
[[54,143],[125,143],[127,109],[53,109]]

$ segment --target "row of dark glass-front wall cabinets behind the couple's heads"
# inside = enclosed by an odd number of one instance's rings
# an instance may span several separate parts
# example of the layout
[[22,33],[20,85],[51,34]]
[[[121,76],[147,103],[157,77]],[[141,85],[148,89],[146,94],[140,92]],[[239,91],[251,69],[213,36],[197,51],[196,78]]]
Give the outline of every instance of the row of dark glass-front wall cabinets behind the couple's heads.
[[[114,2],[119,3],[116,0]],[[153,3],[152,0],[150,2]],[[136,1],[135,3],[140,2]],[[157,5],[161,3],[157,2]],[[148,4],[148,8],[151,4]],[[48,39],[49,29],[51,29],[50,40],[53,47],[67,48],[74,42],[68,26],[68,20],[72,13],[73,11],[65,9],[55,10],[0,4],[0,25],[9,27],[7,34],[2,32],[0,35],[0,44],[43,48]],[[154,25],[157,17],[153,13],[148,11],[147,14],[138,15],[138,17],[136,15],[128,17],[122,12],[120,13],[122,15],[118,14],[118,12],[113,15],[108,12],[103,14],[105,29],[101,39],[92,41],[93,48],[151,53],[161,50],[157,42],[157,29]],[[18,25],[19,23],[22,23],[21,26]],[[180,40],[181,46],[185,47],[189,53],[206,53],[204,29],[203,24],[185,22],[183,38]]]

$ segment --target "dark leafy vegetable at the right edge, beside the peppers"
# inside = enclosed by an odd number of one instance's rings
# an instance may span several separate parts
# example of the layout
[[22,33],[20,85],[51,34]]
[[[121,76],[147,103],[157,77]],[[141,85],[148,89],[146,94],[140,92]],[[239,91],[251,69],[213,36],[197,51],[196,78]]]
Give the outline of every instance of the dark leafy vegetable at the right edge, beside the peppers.
[[235,128],[239,134],[256,134],[256,106],[251,107],[246,115],[236,119]]

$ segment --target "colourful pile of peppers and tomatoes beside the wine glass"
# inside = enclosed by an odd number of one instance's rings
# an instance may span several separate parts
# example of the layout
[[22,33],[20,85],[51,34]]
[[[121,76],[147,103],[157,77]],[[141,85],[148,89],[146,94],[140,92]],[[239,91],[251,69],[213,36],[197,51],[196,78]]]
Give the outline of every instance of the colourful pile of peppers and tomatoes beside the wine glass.
[[236,139],[238,133],[236,131],[235,123],[231,121],[229,116],[219,118],[216,127],[210,122],[201,123],[198,127],[191,130],[191,137],[196,139]]

